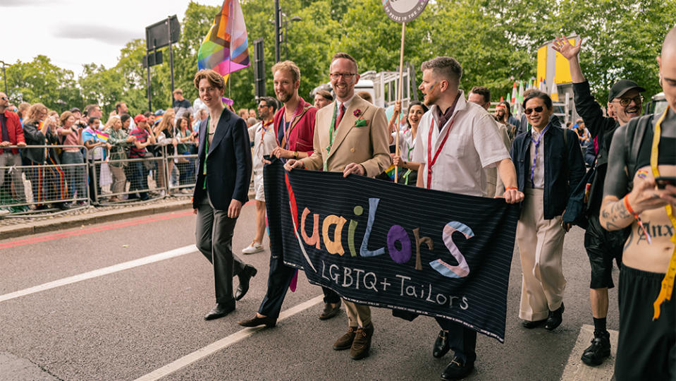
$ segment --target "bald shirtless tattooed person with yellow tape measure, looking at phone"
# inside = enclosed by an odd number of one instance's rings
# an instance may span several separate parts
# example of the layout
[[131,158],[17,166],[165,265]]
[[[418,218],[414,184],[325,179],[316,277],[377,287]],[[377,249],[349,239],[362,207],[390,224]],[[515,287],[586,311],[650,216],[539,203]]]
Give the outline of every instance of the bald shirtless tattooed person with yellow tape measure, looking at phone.
[[615,131],[599,218],[609,231],[630,229],[620,269],[617,381],[676,380],[676,28],[657,61],[669,107]]

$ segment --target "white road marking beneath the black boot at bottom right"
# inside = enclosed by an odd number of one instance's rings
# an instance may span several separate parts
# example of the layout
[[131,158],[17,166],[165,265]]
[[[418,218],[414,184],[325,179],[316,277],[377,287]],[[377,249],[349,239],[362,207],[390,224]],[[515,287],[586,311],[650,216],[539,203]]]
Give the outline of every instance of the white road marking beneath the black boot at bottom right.
[[617,355],[617,331],[609,330],[610,332],[610,356],[606,357],[605,361],[598,366],[589,366],[582,362],[582,352],[591,344],[591,339],[594,337],[593,325],[582,325],[577,335],[575,346],[570,352],[570,357],[563,369],[561,375],[562,381],[609,381],[613,379],[615,374],[615,356]]

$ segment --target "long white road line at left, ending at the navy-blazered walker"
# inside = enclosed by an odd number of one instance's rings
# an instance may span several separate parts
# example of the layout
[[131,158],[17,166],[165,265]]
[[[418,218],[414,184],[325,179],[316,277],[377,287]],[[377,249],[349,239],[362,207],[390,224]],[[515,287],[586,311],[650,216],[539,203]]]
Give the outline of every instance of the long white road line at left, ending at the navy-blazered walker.
[[28,289],[23,289],[11,292],[9,294],[0,295],[0,302],[8,301],[13,298],[19,298],[21,296],[35,294],[40,291],[54,289],[60,286],[66,286],[66,284],[82,282],[83,280],[92,279],[96,277],[102,277],[103,275],[112,274],[113,272],[129,270],[133,267],[148,265],[149,263],[159,262],[161,260],[167,260],[169,258],[176,258],[179,257],[180,255],[194,253],[195,251],[197,251],[197,246],[188,245],[183,246],[182,248],[176,248],[173,250],[165,251],[164,253],[149,255],[147,257],[139,258],[136,260],[130,260],[128,262],[119,263],[118,265],[103,267],[101,269],[93,270],[90,272],[83,272],[82,274],[73,275],[73,277],[58,279],[55,280],[54,282],[48,282],[40,284],[39,286],[30,287]]

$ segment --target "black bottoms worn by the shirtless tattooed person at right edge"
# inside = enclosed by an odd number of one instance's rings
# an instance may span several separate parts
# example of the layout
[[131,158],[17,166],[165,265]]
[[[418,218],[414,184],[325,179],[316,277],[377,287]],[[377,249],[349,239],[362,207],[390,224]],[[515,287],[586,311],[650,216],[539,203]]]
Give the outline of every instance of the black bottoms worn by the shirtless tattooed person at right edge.
[[622,266],[620,270],[620,335],[615,379],[676,379],[676,295],[662,303],[653,320],[653,302],[664,274]]

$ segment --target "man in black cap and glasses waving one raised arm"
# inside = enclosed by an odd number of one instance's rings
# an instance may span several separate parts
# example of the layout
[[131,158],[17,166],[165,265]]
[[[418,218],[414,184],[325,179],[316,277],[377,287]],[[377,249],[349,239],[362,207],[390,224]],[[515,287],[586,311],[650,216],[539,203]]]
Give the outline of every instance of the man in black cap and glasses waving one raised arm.
[[582,117],[591,133],[596,147],[596,172],[591,181],[587,206],[589,225],[584,234],[584,248],[591,264],[591,284],[589,298],[591,313],[594,315],[594,339],[591,346],[582,353],[586,365],[601,365],[603,359],[610,356],[610,334],[606,329],[608,315],[608,289],[612,289],[613,258],[619,266],[622,262],[622,249],[627,239],[627,229],[606,231],[598,222],[598,212],[603,201],[603,181],[608,169],[608,150],[615,128],[641,115],[643,96],[646,91],[633,80],[618,80],[608,92],[608,111],[612,108],[615,117],[603,116],[603,110],[589,91],[589,82],[582,75],[579,66],[579,44],[570,44],[566,37],[557,37],[553,49],[563,55],[570,64],[570,76],[573,83],[575,109]]

